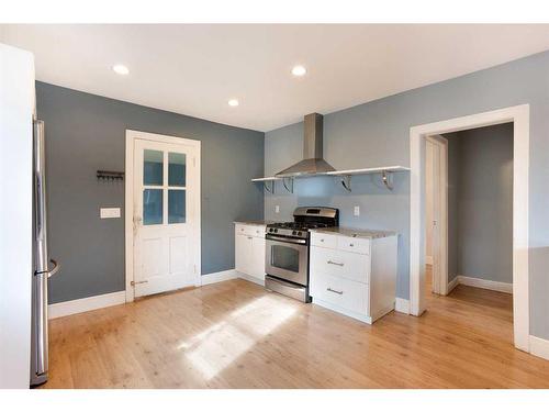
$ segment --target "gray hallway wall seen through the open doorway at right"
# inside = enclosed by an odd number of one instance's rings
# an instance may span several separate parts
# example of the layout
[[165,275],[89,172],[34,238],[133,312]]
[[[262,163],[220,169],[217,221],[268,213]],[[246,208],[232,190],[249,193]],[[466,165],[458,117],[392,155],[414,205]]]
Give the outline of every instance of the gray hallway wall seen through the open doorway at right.
[[445,137],[448,163],[457,164],[448,167],[457,194],[450,197],[449,190],[448,223],[456,231],[448,240],[448,278],[462,275],[512,283],[513,123]]

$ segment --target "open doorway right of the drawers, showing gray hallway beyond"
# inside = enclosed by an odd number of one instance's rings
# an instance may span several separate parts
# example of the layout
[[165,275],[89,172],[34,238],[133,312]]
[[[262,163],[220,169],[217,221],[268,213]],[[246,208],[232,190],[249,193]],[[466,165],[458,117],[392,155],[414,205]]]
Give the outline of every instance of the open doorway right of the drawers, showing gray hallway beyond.
[[427,292],[463,285],[512,294],[513,123],[425,143]]

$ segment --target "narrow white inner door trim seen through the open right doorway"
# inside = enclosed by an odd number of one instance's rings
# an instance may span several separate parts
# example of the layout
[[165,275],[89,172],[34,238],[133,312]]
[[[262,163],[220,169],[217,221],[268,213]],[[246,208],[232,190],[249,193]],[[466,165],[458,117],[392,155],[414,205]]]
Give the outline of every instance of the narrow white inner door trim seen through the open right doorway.
[[[435,293],[448,294],[448,140],[439,135],[426,136],[433,144],[440,148],[440,167],[439,167],[439,190],[440,199],[438,227],[440,236],[439,242],[439,271],[433,272],[433,283],[435,285],[435,276],[438,278],[438,289]],[[435,256],[432,256],[435,259]],[[433,264],[433,263],[432,263]],[[435,269],[435,267],[433,267]]]

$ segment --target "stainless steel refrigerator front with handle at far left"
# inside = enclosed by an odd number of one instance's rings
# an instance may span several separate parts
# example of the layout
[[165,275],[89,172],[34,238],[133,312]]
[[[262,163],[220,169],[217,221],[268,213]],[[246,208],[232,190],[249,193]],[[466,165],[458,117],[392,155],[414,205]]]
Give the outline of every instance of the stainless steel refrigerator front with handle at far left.
[[33,274],[31,386],[44,383],[48,371],[47,282],[59,270],[47,253],[46,156],[44,122],[33,129]]

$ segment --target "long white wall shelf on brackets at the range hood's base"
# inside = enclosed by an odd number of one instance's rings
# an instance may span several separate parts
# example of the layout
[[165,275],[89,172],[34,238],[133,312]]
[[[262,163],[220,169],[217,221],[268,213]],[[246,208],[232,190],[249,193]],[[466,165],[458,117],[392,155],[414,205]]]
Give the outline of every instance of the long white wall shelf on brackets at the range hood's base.
[[[380,174],[381,179],[383,181],[383,185],[389,190],[393,190],[393,174],[394,172],[400,172],[400,171],[410,171],[408,167],[404,166],[386,166],[386,167],[370,167],[366,169],[349,169],[349,170],[334,170],[334,171],[328,171],[325,174],[318,174],[318,175],[311,175],[311,176],[299,176],[295,178],[307,178],[307,177],[316,177],[316,176],[338,176],[341,178],[341,185],[347,191],[351,191],[350,188],[350,179],[351,176],[355,175],[373,175],[373,174]],[[270,193],[274,193],[274,181],[277,180],[282,180],[282,183],[284,185],[285,190],[288,190],[290,193],[293,193],[293,177],[290,178],[281,178],[281,177],[260,177],[257,179],[251,179],[254,182],[262,182],[265,190],[267,190]]]

